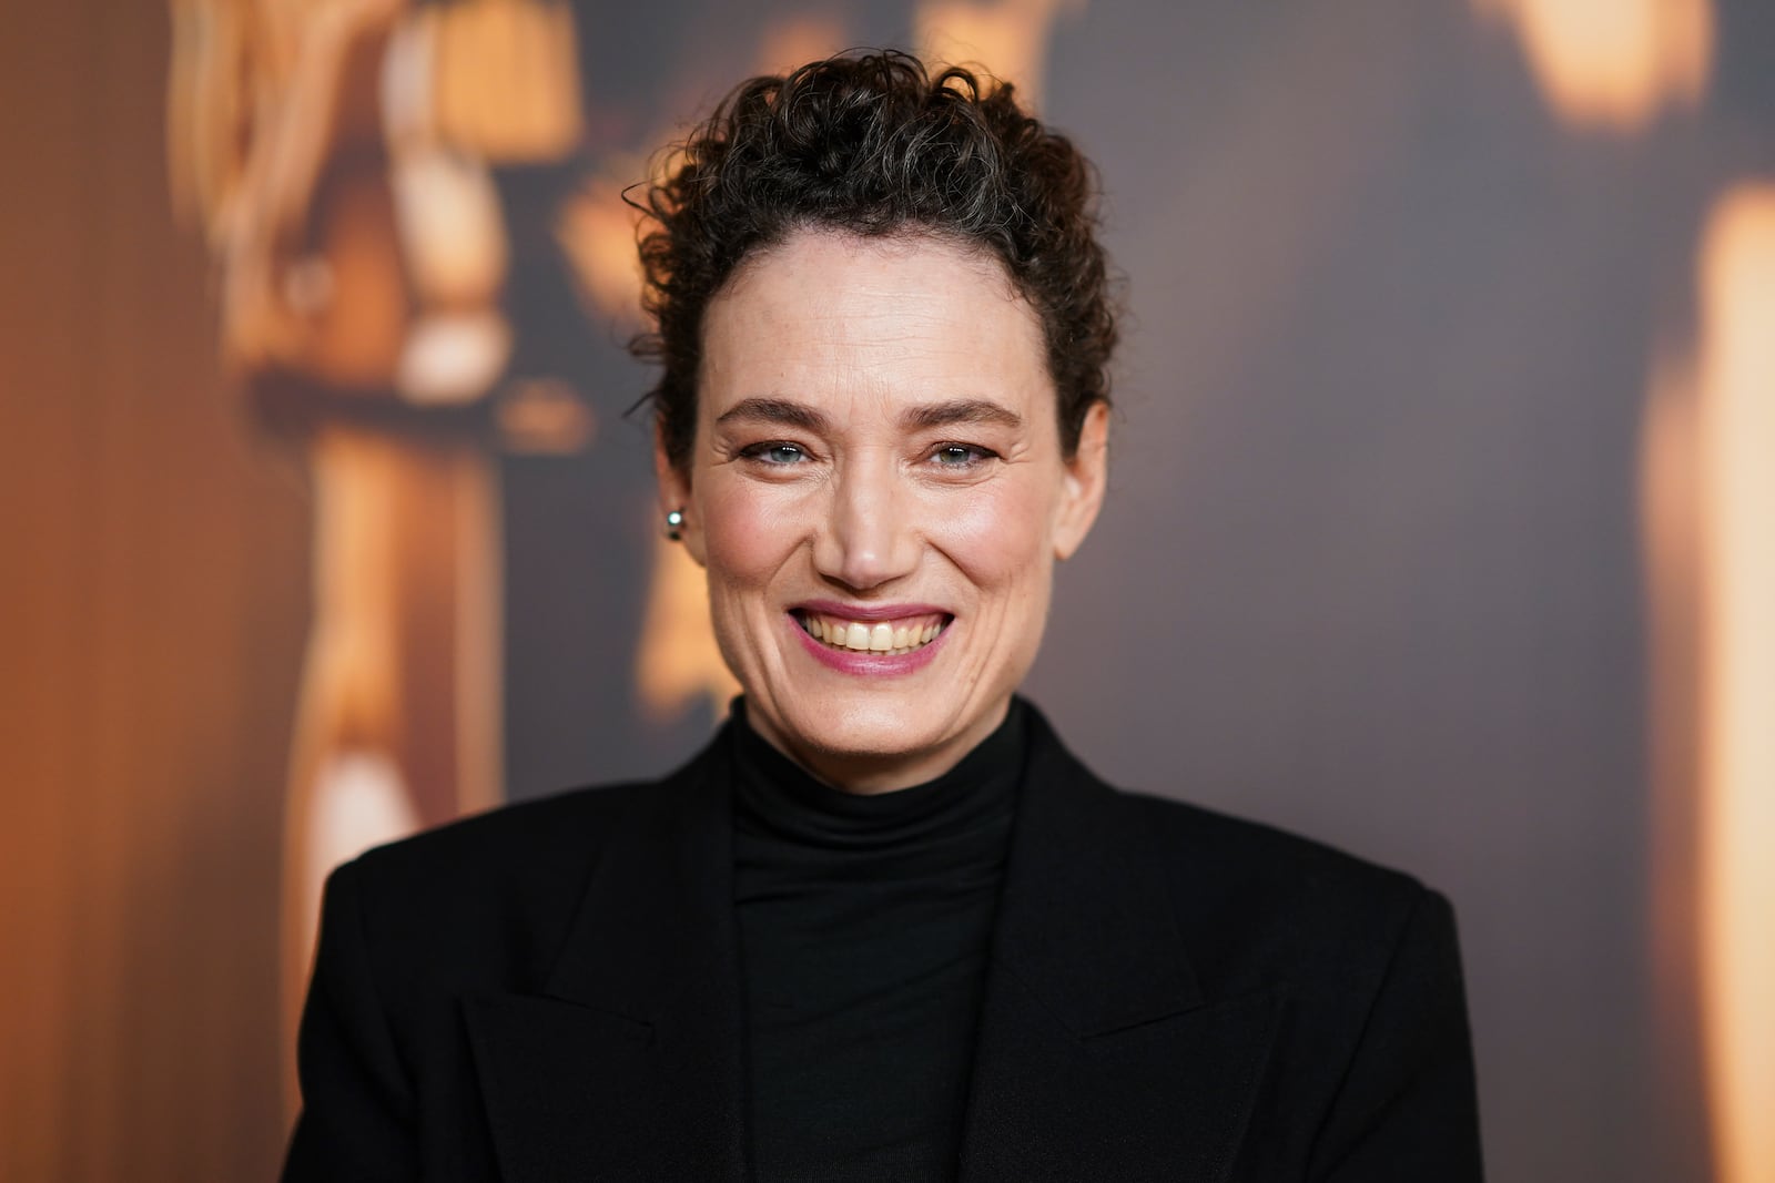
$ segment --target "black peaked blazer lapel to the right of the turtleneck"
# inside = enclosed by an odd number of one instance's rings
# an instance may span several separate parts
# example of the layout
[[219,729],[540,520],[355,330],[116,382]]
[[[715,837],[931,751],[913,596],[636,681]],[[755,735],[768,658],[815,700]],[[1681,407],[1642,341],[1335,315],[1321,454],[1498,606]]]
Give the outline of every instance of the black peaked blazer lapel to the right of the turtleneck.
[[1138,802],[1031,711],[992,936],[962,1179],[1223,1179],[1278,991],[1203,995]]

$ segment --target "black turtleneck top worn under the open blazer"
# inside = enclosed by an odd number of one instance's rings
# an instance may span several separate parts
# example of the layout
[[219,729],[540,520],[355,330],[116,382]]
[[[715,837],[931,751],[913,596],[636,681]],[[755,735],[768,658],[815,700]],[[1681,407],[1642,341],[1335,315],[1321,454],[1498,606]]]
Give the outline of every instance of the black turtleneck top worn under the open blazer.
[[927,784],[811,777],[735,704],[753,1178],[950,1179],[1024,708]]

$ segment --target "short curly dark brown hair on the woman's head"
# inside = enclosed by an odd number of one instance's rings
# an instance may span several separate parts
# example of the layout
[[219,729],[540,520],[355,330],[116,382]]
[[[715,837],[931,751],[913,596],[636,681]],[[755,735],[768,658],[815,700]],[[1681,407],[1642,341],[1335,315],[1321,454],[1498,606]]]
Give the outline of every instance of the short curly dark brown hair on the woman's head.
[[753,252],[804,227],[935,234],[989,250],[1042,319],[1070,458],[1109,401],[1115,302],[1097,241],[1097,176],[1030,117],[1008,82],[932,76],[900,51],[840,55],[740,83],[676,145],[634,204],[643,309],[630,351],[662,364],[653,404],[667,459],[696,436],[703,310]]

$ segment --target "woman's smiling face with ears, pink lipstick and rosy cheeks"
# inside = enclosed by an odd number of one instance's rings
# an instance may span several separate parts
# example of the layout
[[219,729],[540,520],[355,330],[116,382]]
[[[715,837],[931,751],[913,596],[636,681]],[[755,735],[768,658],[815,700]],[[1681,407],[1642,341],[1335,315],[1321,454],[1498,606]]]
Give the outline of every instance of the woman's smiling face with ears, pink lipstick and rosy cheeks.
[[934,238],[799,231],[710,302],[692,456],[659,458],[747,718],[825,780],[941,775],[1003,720],[1104,486],[1035,310]]

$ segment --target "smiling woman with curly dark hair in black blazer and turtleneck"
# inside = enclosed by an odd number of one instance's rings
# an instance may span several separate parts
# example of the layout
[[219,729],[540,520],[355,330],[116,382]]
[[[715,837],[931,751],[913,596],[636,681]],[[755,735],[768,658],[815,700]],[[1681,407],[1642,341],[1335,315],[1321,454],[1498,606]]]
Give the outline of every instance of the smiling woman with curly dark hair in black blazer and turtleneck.
[[1017,697],[1104,497],[1090,177],[898,53],[682,145],[637,349],[744,695],[334,873],[286,1179],[1479,1178],[1447,901]]

